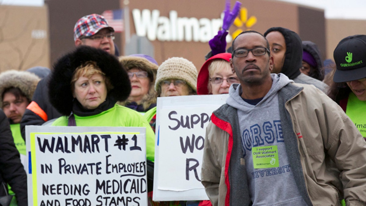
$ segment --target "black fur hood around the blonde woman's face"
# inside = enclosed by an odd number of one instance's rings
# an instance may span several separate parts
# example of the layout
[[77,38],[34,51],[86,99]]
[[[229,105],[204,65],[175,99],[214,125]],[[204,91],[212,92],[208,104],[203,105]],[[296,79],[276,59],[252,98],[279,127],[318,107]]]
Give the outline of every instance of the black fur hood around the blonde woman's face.
[[49,82],[49,99],[51,104],[63,115],[72,111],[71,78],[75,69],[87,61],[94,61],[109,78],[113,89],[108,96],[116,101],[124,101],[131,92],[131,83],[127,72],[116,56],[101,49],[80,46],[73,52],[62,56],[55,65]]

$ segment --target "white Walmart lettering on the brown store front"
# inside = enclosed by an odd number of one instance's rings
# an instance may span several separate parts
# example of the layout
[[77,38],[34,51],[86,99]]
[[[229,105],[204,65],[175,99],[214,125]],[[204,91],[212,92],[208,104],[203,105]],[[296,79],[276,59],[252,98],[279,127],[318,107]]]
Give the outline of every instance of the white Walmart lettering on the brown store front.
[[[160,16],[159,10],[132,10],[137,36],[146,36],[150,41],[195,41],[208,42],[223,23],[220,19],[197,19],[178,17],[176,11],[170,11],[169,17]],[[227,42],[232,40],[227,36]]]

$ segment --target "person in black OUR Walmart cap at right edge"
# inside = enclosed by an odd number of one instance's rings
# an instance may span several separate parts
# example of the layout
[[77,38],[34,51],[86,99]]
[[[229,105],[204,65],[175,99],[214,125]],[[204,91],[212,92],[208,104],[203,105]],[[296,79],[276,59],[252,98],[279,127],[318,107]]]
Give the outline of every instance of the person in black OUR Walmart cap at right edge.
[[336,70],[328,96],[342,107],[366,140],[366,35],[344,38],[333,55]]

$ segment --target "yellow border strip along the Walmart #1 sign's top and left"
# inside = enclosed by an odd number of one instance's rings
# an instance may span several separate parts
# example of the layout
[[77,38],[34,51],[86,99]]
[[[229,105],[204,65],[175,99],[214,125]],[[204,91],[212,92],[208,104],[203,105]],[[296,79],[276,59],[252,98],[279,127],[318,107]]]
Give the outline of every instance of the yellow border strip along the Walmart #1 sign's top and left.
[[[32,167],[32,188],[33,188],[33,205],[38,205],[38,190],[37,190],[37,164],[36,164],[36,134],[38,135],[55,135],[55,134],[105,134],[106,132],[31,132],[30,133],[30,154],[31,154],[31,167]],[[108,134],[128,134],[135,135],[140,132],[108,132]]]

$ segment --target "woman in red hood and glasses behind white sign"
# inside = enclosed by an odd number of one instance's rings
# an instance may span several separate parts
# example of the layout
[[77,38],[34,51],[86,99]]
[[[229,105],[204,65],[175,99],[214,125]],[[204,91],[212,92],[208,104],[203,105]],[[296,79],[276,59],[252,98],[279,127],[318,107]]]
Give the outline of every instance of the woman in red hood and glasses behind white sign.
[[203,64],[197,78],[198,95],[227,94],[231,84],[239,83],[238,77],[231,71],[230,58],[230,53],[221,53]]

